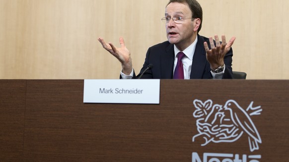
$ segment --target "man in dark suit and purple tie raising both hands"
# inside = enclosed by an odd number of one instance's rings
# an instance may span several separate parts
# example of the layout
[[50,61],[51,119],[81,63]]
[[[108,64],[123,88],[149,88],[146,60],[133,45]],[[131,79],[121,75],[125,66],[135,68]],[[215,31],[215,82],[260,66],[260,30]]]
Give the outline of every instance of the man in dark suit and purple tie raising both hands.
[[[206,38],[198,33],[202,27],[202,7],[196,0],[170,0],[165,9],[166,34],[168,41],[148,49],[144,66],[140,74],[149,64],[153,68],[144,72],[145,79],[231,79],[232,49],[235,37],[226,43],[218,36]],[[106,44],[98,38],[103,48],[113,54],[122,64],[121,78],[131,79],[136,76],[129,50],[120,38],[121,48]],[[179,55],[183,55],[179,57]],[[178,63],[178,59],[181,63]],[[181,66],[180,66],[181,64]],[[178,68],[178,70],[177,70]],[[181,77],[179,69],[182,69]],[[178,72],[176,72],[178,71]]]

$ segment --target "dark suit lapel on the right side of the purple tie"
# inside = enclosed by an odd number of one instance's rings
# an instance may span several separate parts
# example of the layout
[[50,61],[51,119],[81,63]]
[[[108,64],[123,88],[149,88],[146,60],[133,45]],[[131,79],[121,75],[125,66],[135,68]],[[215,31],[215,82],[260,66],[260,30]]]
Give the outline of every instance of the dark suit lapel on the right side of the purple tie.
[[192,70],[190,75],[191,79],[203,78],[204,69],[207,63],[206,51],[204,49],[204,42],[205,40],[198,35],[198,42],[193,56]]

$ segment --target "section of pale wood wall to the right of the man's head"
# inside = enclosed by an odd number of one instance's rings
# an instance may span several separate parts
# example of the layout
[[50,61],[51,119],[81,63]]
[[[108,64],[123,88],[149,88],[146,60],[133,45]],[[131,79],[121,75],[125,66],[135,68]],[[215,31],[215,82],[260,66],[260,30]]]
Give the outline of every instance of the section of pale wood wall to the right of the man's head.
[[[289,79],[288,0],[200,0],[204,12],[202,34],[236,36],[233,70],[248,79]],[[272,68],[273,67],[273,68]]]

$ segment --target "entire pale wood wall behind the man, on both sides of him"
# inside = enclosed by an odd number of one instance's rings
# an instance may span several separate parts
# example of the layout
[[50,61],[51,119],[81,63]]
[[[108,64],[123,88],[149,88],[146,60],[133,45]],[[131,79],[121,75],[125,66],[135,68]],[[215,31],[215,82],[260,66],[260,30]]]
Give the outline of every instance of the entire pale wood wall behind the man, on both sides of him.
[[[117,79],[120,63],[97,41],[123,36],[138,73],[148,47],[166,41],[168,0],[0,0],[1,79]],[[233,70],[289,79],[288,0],[199,0],[201,35],[236,36]]]

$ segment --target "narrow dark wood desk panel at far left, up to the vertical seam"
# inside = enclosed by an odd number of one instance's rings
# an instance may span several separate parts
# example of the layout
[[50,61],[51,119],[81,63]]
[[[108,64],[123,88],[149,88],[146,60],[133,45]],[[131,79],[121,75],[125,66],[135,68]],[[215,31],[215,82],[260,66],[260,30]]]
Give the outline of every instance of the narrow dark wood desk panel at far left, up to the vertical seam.
[[0,162],[23,162],[26,80],[0,80]]

